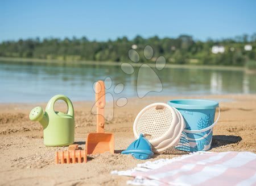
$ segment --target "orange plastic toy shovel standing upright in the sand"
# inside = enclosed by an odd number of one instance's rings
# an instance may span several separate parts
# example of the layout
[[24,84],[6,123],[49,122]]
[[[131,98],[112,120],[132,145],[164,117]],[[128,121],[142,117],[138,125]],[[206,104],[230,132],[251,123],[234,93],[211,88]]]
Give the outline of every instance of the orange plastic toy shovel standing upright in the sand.
[[89,133],[86,140],[87,154],[114,153],[114,134],[104,133],[105,85],[96,82],[97,133]]

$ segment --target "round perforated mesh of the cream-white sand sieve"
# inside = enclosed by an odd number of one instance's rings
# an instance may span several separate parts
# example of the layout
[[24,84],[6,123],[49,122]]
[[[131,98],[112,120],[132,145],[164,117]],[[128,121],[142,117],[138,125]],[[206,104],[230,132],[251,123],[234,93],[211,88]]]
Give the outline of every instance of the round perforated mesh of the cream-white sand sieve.
[[162,137],[172,123],[172,111],[170,109],[156,110],[155,107],[146,110],[137,122],[138,134],[149,134],[151,139]]

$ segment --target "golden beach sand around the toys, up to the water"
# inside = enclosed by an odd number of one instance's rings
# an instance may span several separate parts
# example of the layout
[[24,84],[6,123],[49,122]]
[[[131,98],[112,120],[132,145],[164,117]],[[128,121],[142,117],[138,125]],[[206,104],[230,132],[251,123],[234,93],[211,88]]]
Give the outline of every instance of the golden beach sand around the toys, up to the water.
[[[42,126],[28,119],[34,106],[45,108],[46,103],[0,104],[0,185],[125,185],[131,178],[111,175],[110,172],[127,170],[145,162],[120,154],[134,140],[132,126],[136,115],[148,104],[174,98],[177,97],[129,98],[126,106],[115,108],[114,118],[105,125],[105,130],[115,135],[115,154],[89,155],[86,164],[54,164],[55,151],[67,147],[44,146]],[[256,95],[196,98],[220,102],[221,118],[214,127],[210,151],[256,152]],[[96,131],[96,117],[90,111],[93,102],[74,102],[73,105],[75,141],[84,148],[86,135]],[[66,106],[60,103],[55,108],[65,111]],[[168,150],[151,160],[183,154],[187,152]]]

